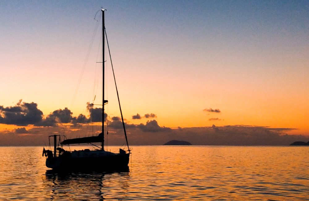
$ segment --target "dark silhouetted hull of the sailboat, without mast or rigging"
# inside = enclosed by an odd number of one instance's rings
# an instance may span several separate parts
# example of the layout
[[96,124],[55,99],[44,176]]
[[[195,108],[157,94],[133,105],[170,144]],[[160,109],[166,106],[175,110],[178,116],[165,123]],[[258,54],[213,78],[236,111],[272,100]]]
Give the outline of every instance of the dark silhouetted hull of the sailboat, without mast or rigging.
[[117,170],[127,169],[130,153],[107,156],[46,158],[46,167],[57,170]]

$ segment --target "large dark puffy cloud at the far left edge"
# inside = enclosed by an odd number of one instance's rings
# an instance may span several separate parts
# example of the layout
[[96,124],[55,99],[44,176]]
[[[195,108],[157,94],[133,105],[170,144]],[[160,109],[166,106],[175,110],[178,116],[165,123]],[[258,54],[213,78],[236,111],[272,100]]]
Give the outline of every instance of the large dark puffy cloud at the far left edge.
[[0,123],[14,124],[17,126],[27,126],[36,124],[42,120],[43,112],[37,108],[34,102],[19,102],[12,107],[3,107],[0,105]]

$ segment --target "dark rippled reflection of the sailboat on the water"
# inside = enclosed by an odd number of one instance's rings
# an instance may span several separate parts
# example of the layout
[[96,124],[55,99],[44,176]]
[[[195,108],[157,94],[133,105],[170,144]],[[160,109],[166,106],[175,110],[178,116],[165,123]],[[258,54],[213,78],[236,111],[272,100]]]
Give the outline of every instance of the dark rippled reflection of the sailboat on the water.
[[112,199],[114,194],[108,194],[107,190],[111,191],[113,187],[108,186],[108,184],[116,178],[122,179],[122,182],[118,182],[120,186],[117,186],[122,190],[117,194],[123,194],[123,197],[125,197],[125,194],[129,191],[129,184],[127,183],[129,169],[114,172],[47,170],[45,175],[46,179],[44,179],[43,185],[50,199]]

